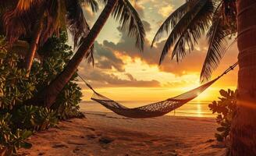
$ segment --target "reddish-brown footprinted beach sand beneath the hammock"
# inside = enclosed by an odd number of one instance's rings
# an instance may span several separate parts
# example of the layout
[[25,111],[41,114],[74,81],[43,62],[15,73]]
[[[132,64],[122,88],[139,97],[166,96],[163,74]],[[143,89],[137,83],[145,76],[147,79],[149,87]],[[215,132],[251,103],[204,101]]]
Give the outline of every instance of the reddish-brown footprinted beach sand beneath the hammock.
[[35,133],[20,155],[224,155],[215,141],[215,119],[162,116],[129,119],[112,112],[85,112],[87,119],[60,122]]

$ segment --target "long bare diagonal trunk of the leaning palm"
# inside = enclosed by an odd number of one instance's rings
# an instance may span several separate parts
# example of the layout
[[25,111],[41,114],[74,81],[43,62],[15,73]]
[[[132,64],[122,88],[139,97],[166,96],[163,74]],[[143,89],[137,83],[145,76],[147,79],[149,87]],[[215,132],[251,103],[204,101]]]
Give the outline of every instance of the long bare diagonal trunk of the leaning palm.
[[46,105],[48,108],[52,106],[62,88],[65,87],[66,83],[69,82],[73,74],[76,73],[77,67],[79,66],[80,62],[82,62],[84,55],[87,54],[92,44],[94,44],[96,37],[100,33],[102,27],[105,25],[117,2],[118,0],[108,0],[107,5],[105,5],[101,15],[98,17],[98,20],[91,28],[90,33],[84,38],[83,44],[80,45],[80,48],[78,48],[76,54],[69,61],[65,69],[63,69],[62,73],[60,73],[59,76],[57,76],[55,80],[48,85],[48,87],[42,90],[37,97],[27,101],[27,104]]

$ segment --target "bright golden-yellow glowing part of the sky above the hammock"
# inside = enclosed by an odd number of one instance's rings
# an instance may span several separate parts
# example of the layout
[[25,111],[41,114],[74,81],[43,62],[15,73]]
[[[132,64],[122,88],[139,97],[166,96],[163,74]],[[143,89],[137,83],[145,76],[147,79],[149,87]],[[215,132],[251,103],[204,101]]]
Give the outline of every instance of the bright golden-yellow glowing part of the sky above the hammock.
[[[123,53],[119,51],[115,51],[115,55],[123,60],[124,72],[119,72],[115,68],[112,68],[105,71],[105,73],[117,76],[119,80],[156,80],[159,83],[158,87],[106,87],[102,84],[102,87],[97,89],[100,93],[115,100],[158,101],[169,97],[175,97],[201,86],[201,83],[199,82],[199,73],[187,73],[186,71],[183,71],[183,75],[176,76],[173,73],[161,71],[157,65],[150,65],[147,62],[144,62],[141,58],[131,58],[128,55],[123,55]],[[127,76],[126,73],[129,73],[130,76]],[[221,87],[217,87],[217,85]],[[203,93],[198,93],[198,97],[195,98],[195,100],[215,100],[219,97],[220,89],[222,89],[222,82],[212,85],[212,87],[209,87]],[[90,94],[90,91],[84,90],[84,93],[88,95]],[[84,100],[89,100],[89,97],[85,96]]]

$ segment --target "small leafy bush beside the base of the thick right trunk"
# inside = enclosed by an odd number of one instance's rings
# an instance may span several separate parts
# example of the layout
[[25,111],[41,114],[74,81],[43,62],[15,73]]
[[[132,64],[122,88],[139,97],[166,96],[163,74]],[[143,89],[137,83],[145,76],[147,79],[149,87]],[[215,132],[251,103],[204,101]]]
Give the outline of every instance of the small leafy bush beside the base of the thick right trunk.
[[212,113],[217,113],[216,122],[219,124],[215,137],[218,141],[227,140],[233,116],[236,113],[236,92],[233,90],[220,90],[219,101],[212,101],[209,105]]

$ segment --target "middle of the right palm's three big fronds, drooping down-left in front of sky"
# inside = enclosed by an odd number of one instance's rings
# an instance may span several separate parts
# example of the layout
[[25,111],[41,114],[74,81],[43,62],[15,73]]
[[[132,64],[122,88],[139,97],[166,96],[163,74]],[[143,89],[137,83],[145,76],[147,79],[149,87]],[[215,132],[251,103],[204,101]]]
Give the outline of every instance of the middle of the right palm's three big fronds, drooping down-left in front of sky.
[[169,48],[175,44],[172,51],[172,58],[176,56],[179,62],[186,55],[186,46],[188,51],[194,50],[194,44],[204,34],[212,19],[214,4],[210,0],[197,0],[194,6],[190,8],[180,21],[173,28],[171,34],[165,42],[159,64],[162,63]]

